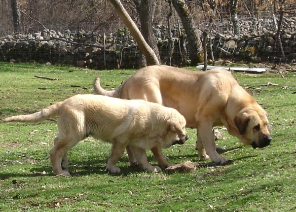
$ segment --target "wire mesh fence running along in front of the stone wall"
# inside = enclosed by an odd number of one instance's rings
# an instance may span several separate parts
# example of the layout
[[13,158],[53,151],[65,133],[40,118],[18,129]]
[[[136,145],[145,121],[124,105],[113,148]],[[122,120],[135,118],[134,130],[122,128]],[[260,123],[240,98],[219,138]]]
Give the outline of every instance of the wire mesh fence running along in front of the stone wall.
[[[239,35],[234,35],[228,13],[217,15],[208,37],[208,58],[241,62],[284,62],[296,60],[296,13],[289,11],[238,12]],[[279,26],[280,23],[280,26]],[[196,29],[201,39],[208,25],[199,20]],[[36,61],[77,65],[94,69],[138,68],[141,54],[134,38],[124,25],[117,29],[92,23],[22,26],[14,34],[11,27],[0,29],[0,60]],[[172,25],[175,49],[169,55],[168,27],[154,24],[153,32],[160,49],[161,63],[186,66],[191,60],[190,43],[180,22]],[[213,51],[212,54],[211,51]],[[211,57],[214,56],[214,58]]]

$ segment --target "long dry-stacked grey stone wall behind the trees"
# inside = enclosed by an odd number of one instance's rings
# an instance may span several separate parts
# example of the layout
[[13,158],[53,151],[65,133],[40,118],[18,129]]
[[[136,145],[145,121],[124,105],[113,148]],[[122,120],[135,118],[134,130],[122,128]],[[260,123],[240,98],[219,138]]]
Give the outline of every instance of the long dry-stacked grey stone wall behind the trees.
[[[230,22],[215,24],[211,43],[215,60],[231,59],[243,62],[293,62],[296,59],[296,18],[284,18],[281,42],[285,57],[276,43],[276,31],[270,19],[240,21],[241,34],[232,34]],[[186,35],[174,26],[174,52],[168,54],[168,28],[155,26],[154,35],[163,64],[186,66],[190,55]],[[201,31],[199,31],[202,35]],[[43,30],[30,35],[7,35],[0,38],[0,61],[19,61],[87,66],[91,69],[137,69],[141,63],[139,49],[126,28],[103,36],[93,32],[65,32]],[[208,49],[210,42],[208,42]],[[105,58],[105,59],[104,59]],[[210,57],[208,57],[210,59]],[[78,62],[78,63],[77,63]]]

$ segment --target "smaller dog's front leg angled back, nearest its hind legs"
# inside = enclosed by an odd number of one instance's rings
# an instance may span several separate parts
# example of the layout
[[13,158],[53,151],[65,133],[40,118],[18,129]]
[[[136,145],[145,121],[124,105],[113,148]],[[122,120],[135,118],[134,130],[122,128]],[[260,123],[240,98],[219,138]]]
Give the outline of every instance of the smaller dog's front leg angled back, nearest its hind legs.
[[120,169],[116,166],[118,160],[122,157],[126,144],[114,141],[111,147],[111,153],[107,163],[107,170],[112,174],[120,172]]

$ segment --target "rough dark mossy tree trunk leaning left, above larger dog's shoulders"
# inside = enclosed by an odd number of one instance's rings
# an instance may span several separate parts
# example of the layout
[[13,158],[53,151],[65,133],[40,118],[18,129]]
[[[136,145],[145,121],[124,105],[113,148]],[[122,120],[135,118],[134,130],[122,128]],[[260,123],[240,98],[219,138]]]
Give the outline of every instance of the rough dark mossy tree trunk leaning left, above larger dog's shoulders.
[[172,0],[173,5],[182,21],[188,41],[188,54],[191,58],[191,66],[203,63],[203,49],[200,36],[195,30],[193,20],[184,0]]

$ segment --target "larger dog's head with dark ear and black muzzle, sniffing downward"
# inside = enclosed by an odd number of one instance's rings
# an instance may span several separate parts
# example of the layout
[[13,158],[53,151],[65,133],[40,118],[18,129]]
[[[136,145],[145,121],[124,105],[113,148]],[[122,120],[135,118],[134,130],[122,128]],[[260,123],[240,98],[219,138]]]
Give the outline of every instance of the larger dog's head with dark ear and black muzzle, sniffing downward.
[[272,138],[267,129],[267,117],[267,112],[259,105],[238,112],[233,121],[245,145],[261,148],[270,144]]

